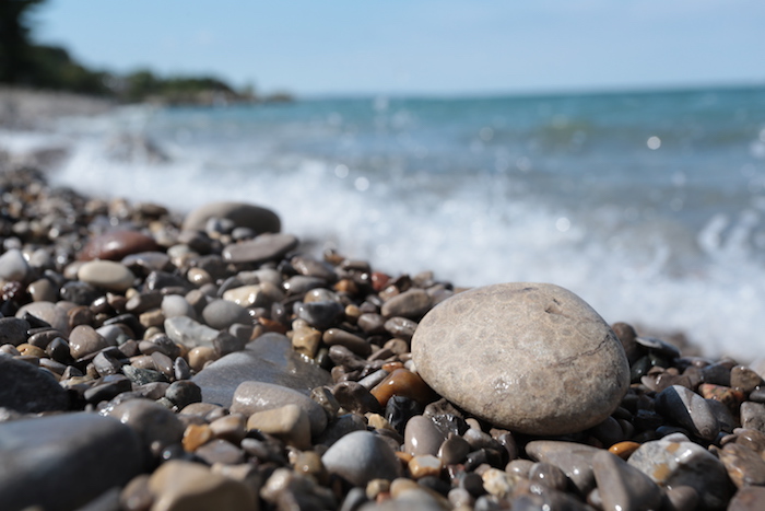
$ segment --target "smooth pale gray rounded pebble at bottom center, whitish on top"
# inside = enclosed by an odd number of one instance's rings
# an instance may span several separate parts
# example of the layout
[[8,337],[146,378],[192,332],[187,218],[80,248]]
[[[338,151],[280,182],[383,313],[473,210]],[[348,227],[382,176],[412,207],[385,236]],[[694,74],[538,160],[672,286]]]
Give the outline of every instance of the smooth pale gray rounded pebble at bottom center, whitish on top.
[[402,473],[393,450],[380,437],[368,431],[344,435],[327,450],[321,462],[327,471],[355,486],[366,486],[372,479],[395,479]]

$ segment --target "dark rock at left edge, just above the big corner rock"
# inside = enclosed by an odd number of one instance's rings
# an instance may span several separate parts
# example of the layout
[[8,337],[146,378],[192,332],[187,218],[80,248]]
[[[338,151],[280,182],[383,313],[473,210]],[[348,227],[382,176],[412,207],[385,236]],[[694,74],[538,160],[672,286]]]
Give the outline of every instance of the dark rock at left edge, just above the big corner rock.
[[49,372],[0,356],[0,407],[33,414],[66,410],[69,394]]

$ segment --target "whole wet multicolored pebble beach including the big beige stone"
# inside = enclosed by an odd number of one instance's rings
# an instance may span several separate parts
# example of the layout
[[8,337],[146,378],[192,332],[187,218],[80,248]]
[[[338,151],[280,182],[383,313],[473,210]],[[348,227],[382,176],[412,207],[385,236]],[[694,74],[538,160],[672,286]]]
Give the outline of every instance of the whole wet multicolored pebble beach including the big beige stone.
[[[4,510],[765,507],[765,364],[589,330],[560,288],[548,320],[498,321],[526,299],[492,316],[431,274],[313,256],[252,206],[181,218],[28,169],[0,195]],[[573,411],[525,422],[538,405]]]

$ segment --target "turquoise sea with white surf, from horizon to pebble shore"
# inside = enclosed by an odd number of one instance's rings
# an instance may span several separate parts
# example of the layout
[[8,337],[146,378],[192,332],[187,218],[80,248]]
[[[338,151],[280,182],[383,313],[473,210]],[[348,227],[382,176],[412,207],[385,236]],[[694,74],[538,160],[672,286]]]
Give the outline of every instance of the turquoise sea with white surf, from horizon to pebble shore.
[[57,178],[87,191],[249,200],[388,271],[551,281],[610,322],[765,351],[765,88],[133,107],[56,136]]

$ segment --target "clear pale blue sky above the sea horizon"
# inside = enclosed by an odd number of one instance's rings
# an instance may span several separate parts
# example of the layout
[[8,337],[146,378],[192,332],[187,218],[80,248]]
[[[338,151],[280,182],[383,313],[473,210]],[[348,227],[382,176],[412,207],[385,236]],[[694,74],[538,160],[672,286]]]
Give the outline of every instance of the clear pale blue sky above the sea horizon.
[[491,94],[765,83],[763,0],[49,0],[39,42],[260,92]]

